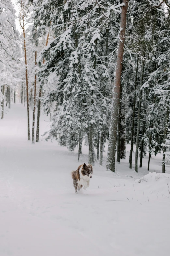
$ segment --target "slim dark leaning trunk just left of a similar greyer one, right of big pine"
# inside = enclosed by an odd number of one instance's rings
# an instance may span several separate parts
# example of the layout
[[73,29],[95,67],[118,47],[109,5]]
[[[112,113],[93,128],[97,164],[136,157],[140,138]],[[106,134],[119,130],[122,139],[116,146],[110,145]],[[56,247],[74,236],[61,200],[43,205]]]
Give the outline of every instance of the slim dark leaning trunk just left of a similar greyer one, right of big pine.
[[130,169],[132,169],[132,152],[133,152],[133,146],[134,146],[134,123],[135,123],[135,106],[136,106],[136,86],[137,86],[137,75],[138,75],[138,63],[139,63],[139,57],[137,57],[135,89],[134,89],[134,104],[133,104],[132,128],[131,128],[131,149],[130,149],[130,155],[129,155],[129,168]]

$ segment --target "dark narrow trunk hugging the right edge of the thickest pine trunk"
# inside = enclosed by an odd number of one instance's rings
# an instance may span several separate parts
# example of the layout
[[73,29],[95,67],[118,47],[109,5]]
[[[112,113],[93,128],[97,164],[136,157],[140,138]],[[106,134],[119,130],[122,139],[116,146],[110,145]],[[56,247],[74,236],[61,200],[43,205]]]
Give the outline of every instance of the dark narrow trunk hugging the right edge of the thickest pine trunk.
[[118,163],[120,163],[121,100],[122,100],[122,85],[120,84],[120,100],[119,100],[119,111],[118,111],[118,140],[117,140],[117,162],[118,162]]

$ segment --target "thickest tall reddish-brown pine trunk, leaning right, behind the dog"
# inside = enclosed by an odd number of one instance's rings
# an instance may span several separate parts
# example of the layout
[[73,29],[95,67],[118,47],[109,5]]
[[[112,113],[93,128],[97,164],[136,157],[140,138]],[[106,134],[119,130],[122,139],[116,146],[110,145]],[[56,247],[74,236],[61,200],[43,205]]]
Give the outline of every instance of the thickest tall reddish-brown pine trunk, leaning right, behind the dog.
[[120,21],[121,31],[120,31],[118,57],[117,57],[117,64],[116,64],[116,74],[115,74],[116,78],[115,78],[113,100],[112,100],[109,145],[108,145],[107,165],[106,165],[106,170],[109,170],[112,172],[115,171],[118,108],[119,108],[119,99],[120,99],[120,83],[121,83],[121,72],[122,72],[122,63],[123,63],[128,0],[123,0],[123,4],[124,6],[122,6],[122,11],[121,11],[121,21]]

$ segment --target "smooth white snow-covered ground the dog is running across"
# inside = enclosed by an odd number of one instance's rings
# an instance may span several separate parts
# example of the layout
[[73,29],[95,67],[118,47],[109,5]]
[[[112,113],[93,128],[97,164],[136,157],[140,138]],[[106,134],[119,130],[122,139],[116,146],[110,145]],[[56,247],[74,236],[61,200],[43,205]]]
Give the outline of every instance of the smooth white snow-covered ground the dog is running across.
[[[41,134],[49,124],[41,115]],[[152,157],[149,174],[147,156],[135,173],[127,152],[113,174],[105,152],[90,187],[75,194],[70,172],[88,161],[87,147],[80,162],[77,151],[28,142],[21,104],[0,120],[0,256],[168,255],[170,175],[159,174],[161,155]]]

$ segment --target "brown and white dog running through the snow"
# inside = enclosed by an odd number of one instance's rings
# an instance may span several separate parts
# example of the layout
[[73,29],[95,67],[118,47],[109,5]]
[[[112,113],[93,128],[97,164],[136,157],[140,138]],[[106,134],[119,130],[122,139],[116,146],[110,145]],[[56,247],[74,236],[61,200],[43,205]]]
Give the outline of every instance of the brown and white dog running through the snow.
[[82,187],[84,189],[89,187],[90,179],[92,178],[93,174],[93,167],[91,164],[82,164],[78,166],[76,171],[72,171],[72,178],[73,178],[73,186],[75,191],[80,190]]

